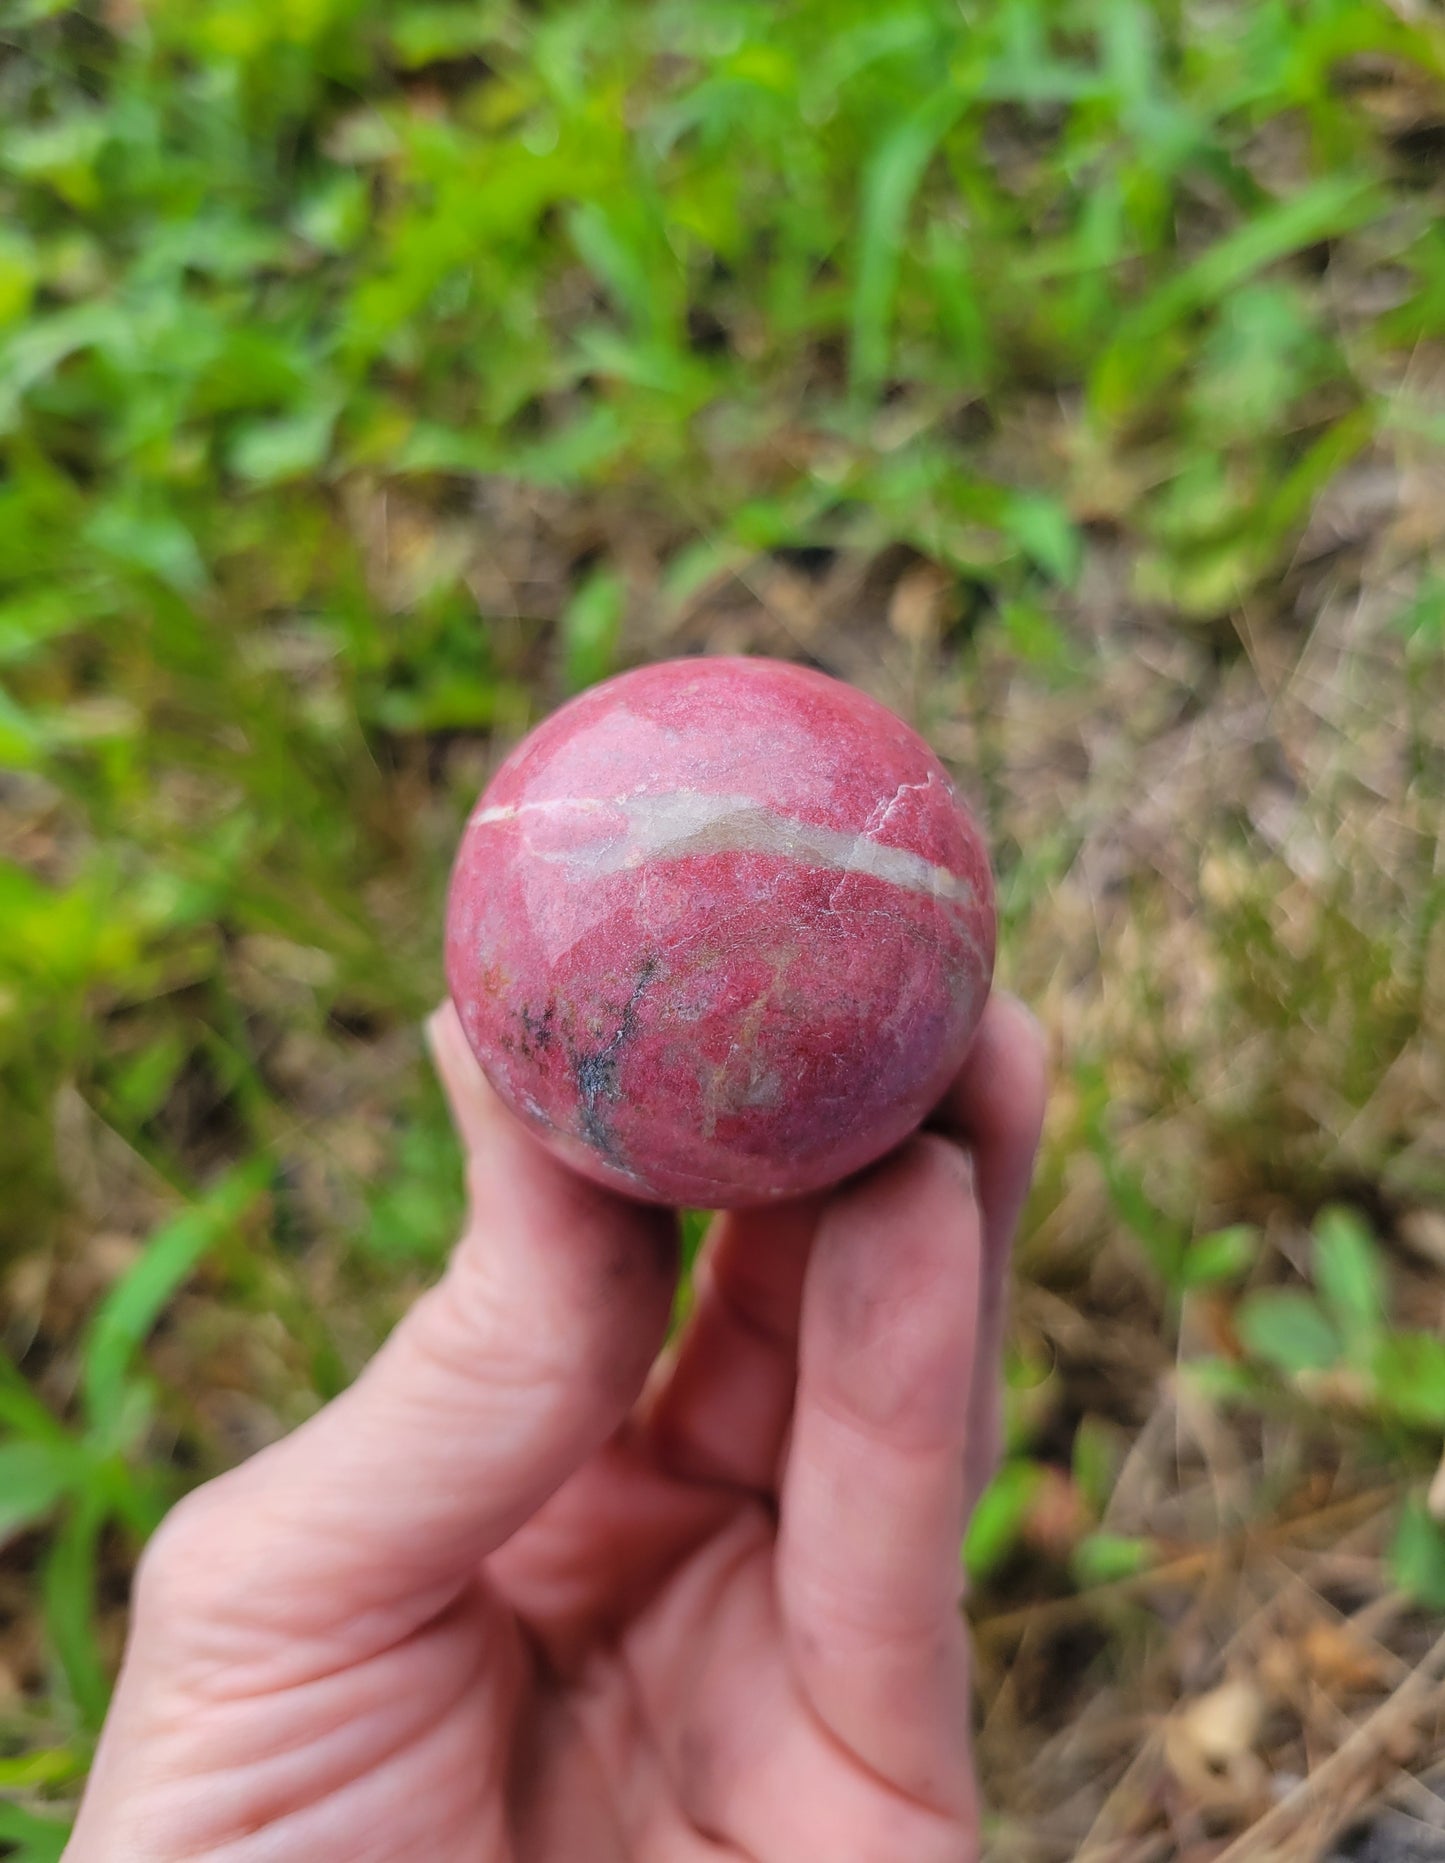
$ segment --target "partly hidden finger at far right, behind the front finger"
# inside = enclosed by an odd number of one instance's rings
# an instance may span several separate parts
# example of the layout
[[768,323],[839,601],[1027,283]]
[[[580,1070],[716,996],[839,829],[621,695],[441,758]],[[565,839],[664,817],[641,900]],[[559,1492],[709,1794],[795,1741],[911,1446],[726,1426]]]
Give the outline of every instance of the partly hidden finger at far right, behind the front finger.
[[1013,1231],[1028,1198],[1048,1086],[1048,1043],[1017,997],[989,999],[968,1060],[933,1125],[974,1157],[983,1217],[978,1353],[966,1446],[966,1509],[993,1479],[1002,1448],[1002,1353]]

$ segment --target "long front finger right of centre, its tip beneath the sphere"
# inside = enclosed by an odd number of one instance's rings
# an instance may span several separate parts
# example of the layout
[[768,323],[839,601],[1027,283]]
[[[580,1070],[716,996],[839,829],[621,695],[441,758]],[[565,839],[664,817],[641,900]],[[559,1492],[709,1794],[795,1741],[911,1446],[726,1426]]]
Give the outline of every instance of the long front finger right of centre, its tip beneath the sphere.
[[968,1157],[912,1140],[823,1215],[808,1269],[778,1602],[816,1714],[899,1790],[968,1794],[959,1617],[979,1300]]

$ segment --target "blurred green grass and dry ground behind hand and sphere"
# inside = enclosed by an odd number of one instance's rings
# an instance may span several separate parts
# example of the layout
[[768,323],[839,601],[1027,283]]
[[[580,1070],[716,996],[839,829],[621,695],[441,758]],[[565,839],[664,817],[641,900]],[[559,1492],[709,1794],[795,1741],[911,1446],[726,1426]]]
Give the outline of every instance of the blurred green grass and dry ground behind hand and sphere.
[[993,1843],[1218,1854],[1188,1703],[1307,1772],[1445,1610],[1438,6],[0,0],[0,1854],[158,1515],[445,1254],[471,797],[695,650],[991,820]]

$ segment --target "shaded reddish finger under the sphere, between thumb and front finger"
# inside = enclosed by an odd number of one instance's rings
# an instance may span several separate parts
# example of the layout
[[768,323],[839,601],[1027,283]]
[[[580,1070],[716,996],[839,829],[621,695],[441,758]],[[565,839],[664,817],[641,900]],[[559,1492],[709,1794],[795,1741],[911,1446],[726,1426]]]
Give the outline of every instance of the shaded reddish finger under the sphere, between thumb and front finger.
[[648,1438],[670,1474],[773,1492],[819,1209],[808,1198],[713,1222],[693,1315],[648,1416]]

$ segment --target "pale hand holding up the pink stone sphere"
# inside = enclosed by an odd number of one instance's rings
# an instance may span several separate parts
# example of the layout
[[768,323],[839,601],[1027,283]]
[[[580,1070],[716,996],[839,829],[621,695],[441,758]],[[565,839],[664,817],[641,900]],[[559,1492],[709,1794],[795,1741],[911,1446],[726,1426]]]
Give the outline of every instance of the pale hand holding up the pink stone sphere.
[[959,1539],[998,1444],[1037,1027],[931,1131],[713,1224],[555,1164],[451,1010],[445,1278],[145,1554],[67,1863],[972,1863]]

